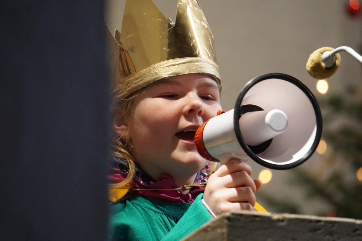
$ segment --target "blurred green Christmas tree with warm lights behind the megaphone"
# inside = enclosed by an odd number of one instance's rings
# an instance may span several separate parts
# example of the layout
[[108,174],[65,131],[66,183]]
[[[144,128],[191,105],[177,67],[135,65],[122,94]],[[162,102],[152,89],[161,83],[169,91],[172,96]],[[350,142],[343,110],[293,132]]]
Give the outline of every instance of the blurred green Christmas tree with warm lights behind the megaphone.
[[[303,186],[306,200],[318,198],[331,208],[315,215],[362,219],[362,84],[318,102],[323,135],[317,152],[323,154],[323,161],[312,173],[293,169],[290,184]],[[300,213],[298,204],[290,200],[263,192],[258,197],[273,207],[273,212]]]

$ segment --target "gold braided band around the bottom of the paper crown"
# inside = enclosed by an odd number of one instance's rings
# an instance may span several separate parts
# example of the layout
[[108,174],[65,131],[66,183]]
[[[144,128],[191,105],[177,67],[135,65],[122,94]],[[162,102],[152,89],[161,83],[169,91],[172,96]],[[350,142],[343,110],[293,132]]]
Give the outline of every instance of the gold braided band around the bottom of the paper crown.
[[214,61],[199,57],[168,59],[152,64],[132,73],[115,87],[114,92],[120,93],[118,99],[124,99],[136,90],[166,77],[185,75],[188,73],[204,73],[211,75],[218,82],[221,90],[219,67]]

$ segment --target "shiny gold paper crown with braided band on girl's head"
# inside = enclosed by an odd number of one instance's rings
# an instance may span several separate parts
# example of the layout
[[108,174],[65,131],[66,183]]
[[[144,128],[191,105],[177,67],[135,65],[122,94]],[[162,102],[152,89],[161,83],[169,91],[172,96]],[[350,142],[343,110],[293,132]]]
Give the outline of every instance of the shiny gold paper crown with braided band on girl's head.
[[174,23],[151,0],[127,0],[121,33],[107,32],[119,98],[187,73],[206,73],[220,84],[214,38],[197,0],[178,0]]

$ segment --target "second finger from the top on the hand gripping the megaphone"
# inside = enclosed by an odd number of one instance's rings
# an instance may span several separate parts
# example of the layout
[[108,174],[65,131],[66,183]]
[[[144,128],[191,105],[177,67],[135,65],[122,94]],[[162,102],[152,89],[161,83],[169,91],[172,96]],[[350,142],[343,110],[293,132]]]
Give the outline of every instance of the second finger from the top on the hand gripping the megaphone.
[[222,185],[227,188],[248,186],[251,187],[253,192],[256,192],[256,183],[245,171],[228,174],[221,177],[219,182],[222,182]]

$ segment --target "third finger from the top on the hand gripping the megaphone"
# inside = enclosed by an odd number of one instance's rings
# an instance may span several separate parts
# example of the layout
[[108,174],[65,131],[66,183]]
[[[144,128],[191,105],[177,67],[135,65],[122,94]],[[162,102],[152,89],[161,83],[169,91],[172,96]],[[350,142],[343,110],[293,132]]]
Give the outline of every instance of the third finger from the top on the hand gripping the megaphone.
[[224,198],[231,203],[250,203],[255,205],[256,198],[253,190],[250,187],[235,187],[224,191]]

